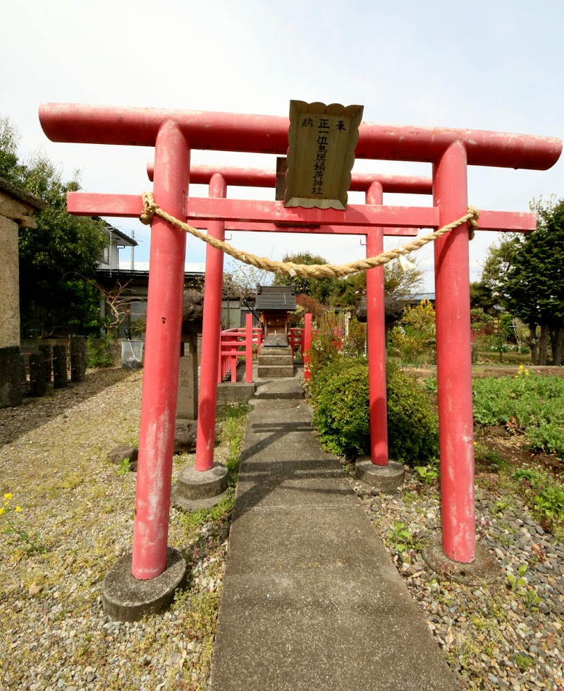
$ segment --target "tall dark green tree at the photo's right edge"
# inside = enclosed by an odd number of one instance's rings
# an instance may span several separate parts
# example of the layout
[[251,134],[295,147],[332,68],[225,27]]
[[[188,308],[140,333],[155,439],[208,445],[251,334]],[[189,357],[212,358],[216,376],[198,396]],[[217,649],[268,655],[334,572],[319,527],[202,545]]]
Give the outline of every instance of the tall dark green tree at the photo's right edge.
[[493,248],[484,276],[500,302],[529,328],[534,364],[547,361],[548,337],[553,364],[562,363],[564,329],[564,200],[533,202],[534,233],[513,236]]

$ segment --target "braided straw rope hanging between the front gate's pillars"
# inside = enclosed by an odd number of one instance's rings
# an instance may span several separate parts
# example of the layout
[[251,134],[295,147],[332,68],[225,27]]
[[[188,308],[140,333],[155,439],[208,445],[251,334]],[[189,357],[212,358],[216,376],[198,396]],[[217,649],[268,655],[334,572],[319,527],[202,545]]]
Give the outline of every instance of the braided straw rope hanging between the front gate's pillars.
[[376,257],[370,257],[367,259],[358,259],[350,264],[294,264],[293,262],[278,262],[272,259],[267,259],[266,257],[258,257],[255,254],[248,252],[241,252],[235,247],[218,240],[211,235],[207,235],[202,231],[194,228],[188,223],[183,223],[174,216],[167,214],[166,211],[162,210],[154,201],[151,192],[143,192],[143,212],[140,215],[140,220],[142,223],[149,224],[154,215],[161,217],[162,219],[168,221],[169,223],[175,225],[176,227],[185,230],[186,232],[192,234],[193,236],[207,242],[207,244],[215,247],[216,249],[225,252],[234,259],[238,259],[245,264],[250,264],[255,266],[257,269],[266,269],[266,271],[272,271],[278,274],[288,274],[290,276],[300,276],[302,278],[338,278],[348,276],[350,274],[356,273],[357,271],[364,271],[366,269],[372,269],[375,266],[381,266],[391,262],[393,259],[397,259],[400,254],[409,254],[410,252],[417,251],[422,248],[427,243],[439,239],[446,233],[458,228],[458,226],[463,223],[470,222],[472,226],[472,232],[478,228],[477,218],[479,212],[473,206],[469,206],[465,215],[460,217],[458,220],[449,223],[434,233],[429,235],[424,235],[422,238],[417,238],[410,243],[407,243],[401,247],[397,247],[386,252],[382,252]]

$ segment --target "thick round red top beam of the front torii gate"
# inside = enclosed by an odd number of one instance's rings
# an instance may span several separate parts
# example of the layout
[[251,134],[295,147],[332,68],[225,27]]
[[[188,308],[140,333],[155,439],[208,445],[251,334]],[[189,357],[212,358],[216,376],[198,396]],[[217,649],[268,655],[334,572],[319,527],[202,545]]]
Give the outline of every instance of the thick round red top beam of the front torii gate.
[[[285,155],[288,117],[157,108],[44,103],[39,121],[52,141],[153,146],[161,124],[178,123],[195,149]],[[470,165],[545,170],[560,156],[553,137],[481,130],[362,123],[355,157],[434,162],[454,142]]]

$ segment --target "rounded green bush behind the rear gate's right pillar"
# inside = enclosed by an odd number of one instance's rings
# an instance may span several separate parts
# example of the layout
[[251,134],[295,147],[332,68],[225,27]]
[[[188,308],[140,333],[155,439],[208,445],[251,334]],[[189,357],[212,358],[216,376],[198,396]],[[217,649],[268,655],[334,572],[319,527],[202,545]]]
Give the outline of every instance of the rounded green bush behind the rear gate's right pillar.
[[[417,381],[388,368],[388,447],[399,462],[429,462],[439,452],[438,423]],[[324,447],[354,459],[370,450],[368,365],[364,358],[341,358],[312,380],[314,425]]]

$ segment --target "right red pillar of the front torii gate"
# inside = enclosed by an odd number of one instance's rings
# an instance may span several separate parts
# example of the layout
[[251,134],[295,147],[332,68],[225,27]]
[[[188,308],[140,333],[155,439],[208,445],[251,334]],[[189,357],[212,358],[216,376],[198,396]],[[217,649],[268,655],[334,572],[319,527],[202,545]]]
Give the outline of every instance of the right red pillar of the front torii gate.
[[[467,207],[466,152],[453,144],[434,168],[434,203],[441,223]],[[465,226],[434,244],[436,362],[443,551],[470,563],[475,556],[474,426],[470,346],[470,270]]]

